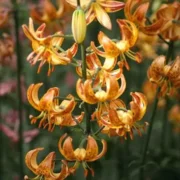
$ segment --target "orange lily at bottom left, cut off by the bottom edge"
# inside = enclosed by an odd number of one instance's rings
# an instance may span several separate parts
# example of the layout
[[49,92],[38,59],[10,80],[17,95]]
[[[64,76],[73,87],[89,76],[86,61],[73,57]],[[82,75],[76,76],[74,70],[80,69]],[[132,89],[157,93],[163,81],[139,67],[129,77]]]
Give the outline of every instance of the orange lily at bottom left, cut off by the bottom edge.
[[[27,167],[37,175],[34,179],[45,179],[45,180],[63,180],[69,175],[69,170],[67,163],[65,161],[62,161],[61,166],[61,172],[60,173],[54,173],[54,165],[55,165],[55,152],[49,153],[45,159],[38,164],[37,163],[37,155],[39,151],[42,151],[44,148],[36,148],[34,150],[29,151],[26,154],[25,162]],[[29,178],[25,176],[26,180]],[[31,179],[31,178],[30,178]]]

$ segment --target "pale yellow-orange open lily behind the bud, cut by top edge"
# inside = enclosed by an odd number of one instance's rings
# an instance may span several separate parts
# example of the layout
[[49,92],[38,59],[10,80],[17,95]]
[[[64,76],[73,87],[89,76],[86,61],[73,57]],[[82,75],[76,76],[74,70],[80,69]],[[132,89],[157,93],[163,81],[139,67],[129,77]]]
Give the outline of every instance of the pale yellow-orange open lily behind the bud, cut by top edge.
[[[77,6],[76,0],[66,0],[72,7]],[[113,13],[124,7],[123,2],[112,0],[80,0],[81,7],[86,10],[86,22],[90,24],[96,18],[99,23],[107,29],[112,29],[111,19],[107,13]]]

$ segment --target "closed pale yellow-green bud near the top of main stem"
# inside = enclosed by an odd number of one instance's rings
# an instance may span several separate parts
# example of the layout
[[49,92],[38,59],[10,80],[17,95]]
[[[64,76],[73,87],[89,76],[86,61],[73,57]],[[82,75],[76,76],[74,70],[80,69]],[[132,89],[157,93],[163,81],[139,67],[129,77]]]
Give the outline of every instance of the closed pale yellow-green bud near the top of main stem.
[[82,43],[86,36],[86,18],[84,11],[78,7],[72,17],[72,33],[77,43]]

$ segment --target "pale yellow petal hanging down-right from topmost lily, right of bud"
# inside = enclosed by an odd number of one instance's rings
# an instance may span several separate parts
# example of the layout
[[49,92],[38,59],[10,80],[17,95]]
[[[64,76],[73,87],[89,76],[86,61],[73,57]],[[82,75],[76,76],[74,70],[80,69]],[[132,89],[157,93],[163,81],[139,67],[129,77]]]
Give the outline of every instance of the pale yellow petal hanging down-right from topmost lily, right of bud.
[[91,6],[93,7],[96,18],[100,24],[107,29],[112,29],[111,19],[106,11],[98,3],[92,3]]

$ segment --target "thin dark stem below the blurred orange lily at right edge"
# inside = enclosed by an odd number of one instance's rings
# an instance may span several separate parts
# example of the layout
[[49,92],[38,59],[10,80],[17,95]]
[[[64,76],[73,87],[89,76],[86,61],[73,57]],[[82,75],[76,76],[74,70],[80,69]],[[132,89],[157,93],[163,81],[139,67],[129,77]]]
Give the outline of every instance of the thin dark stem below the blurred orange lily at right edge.
[[158,88],[157,92],[156,92],[155,101],[154,101],[153,110],[152,110],[152,115],[151,115],[151,118],[149,121],[149,128],[148,128],[147,136],[145,139],[145,145],[144,145],[142,159],[141,159],[141,163],[140,163],[140,180],[144,180],[144,167],[143,166],[144,166],[145,161],[146,161],[147,150],[148,150],[151,132],[152,132],[152,127],[153,127],[153,123],[154,123],[154,119],[155,119],[155,115],[156,115],[159,92],[160,92],[160,88]]

